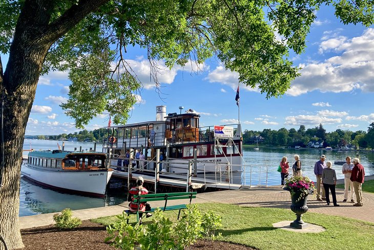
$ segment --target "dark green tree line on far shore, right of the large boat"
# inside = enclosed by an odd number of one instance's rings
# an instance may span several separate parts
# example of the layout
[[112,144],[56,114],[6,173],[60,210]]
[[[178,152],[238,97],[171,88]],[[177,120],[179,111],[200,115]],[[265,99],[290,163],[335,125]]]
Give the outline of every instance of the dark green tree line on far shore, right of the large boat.
[[[245,130],[243,132],[243,144],[256,144],[254,137],[262,137],[257,140],[269,146],[301,146],[307,147],[309,142],[323,142],[323,147],[344,148],[345,146],[361,148],[374,148],[374,122],[368,127],[367,132],[358,130],[337,129],[333,132],[326,132],[322,124],[315,128],[305,129],[301,125],[298,130],[295,128],[280,128],[278,130],[264,129],[262,131]],[[310,145],[310,144],[309,144]]]

